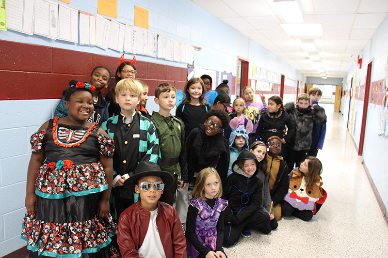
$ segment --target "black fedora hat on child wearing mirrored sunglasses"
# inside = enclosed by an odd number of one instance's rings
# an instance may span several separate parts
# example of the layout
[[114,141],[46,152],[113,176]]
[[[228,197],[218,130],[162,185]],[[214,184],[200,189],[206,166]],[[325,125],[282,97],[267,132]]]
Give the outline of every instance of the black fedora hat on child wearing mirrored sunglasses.
[[166,171],[162,171],[158,164],[150,161],[139,163],[135,171],[129,173],[129,179],[124,182],[124,186],[131,191],[135,191],[135,184],[142,177],[157,176],[161,177],[164,183],[164,191],[174,184],[174,176]]

